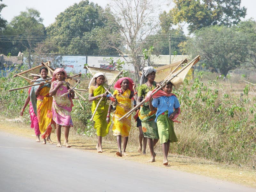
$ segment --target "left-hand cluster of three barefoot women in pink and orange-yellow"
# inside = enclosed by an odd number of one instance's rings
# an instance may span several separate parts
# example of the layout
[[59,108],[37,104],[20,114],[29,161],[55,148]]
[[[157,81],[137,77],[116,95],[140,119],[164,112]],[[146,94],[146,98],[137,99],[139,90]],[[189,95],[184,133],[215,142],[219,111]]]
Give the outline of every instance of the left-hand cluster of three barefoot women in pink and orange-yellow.
[[[71,147],[68,144],[68,133],[70,126],[73,126],[70,112],[73,107],[71,98],[74,98],[75,94],[72,89],[65,83],[67,73],[64,68],[57,68],[53,72],[52,84],[44,82],[47,78],[48,68],[41,67],[39,70],[41,78],[34,77],[38,82],[36,86],[29,89],[27,100],[30,105],[30,119],[31,128],[35,129],[36,141],[40,142],[40,134],[44,140],[42,144],[46,144],[46,141],[53,143],[51,140],[51,133],[57,132],[57,147],[61,147],[60,133],[61,126],[64,126],[64,145]],[[40,82],[42,80],[42,82]],[[70,91],[70,93],[64,97],[60,97],[63,93]],[[23,115],[23,111],[28,105],[28,101],[20,112]]]

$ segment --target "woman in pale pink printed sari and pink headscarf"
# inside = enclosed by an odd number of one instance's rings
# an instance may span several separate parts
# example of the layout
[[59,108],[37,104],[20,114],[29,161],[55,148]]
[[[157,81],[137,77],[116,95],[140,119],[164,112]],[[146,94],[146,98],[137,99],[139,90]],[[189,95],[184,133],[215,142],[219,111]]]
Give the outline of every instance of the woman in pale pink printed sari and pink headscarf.
[[[66,147],[71,147],[68,144],[68,134],[70,126],[73,127],[73,122],[70,116],[72,110],[73,102],[72,99],[75,97],[75,92],[70,89],[66,82],[67,72],[64,68],[56,68],[52,76],[52,84],[49,95],[53,97],[52,101],[52,119],[56,123],[56,135],[57,135],[57,146],[61,147],[61,126],[64,126],[64,145]],[[69,92],[68,95],[60,97],[64,93]]]

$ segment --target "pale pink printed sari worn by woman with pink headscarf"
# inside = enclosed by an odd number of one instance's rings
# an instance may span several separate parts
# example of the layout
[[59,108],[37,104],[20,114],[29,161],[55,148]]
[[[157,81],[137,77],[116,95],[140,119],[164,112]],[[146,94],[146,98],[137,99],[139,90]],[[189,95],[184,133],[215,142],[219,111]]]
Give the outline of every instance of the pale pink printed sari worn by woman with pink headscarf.
[[[52,83],[54,83],[55,88],[58,80]],[[69,94],[64,97],[60,97],[64,93],[67,93],[68,89],[68,85],[64,82],[63,85],[58,88],[56,94],[52,96],[52,119],[58,125],[73,127],[73,122],[70,116],[70,112],[74,106],[73,101]]]

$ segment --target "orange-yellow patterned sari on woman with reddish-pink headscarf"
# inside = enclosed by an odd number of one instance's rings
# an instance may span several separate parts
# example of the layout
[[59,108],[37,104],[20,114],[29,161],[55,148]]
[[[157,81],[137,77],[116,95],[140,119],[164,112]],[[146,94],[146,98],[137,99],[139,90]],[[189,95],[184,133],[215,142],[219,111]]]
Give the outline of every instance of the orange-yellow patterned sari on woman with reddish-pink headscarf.
[[132,100],[129,99],[131,90],[127,89],[122,95],[118,90],[115,90],[113,95],[116,95],[117,105],[115,114],[113,116],[113,135],[122,137],[128,137],[131,129],[131,116],[122,119],[118,119],[124,116],[132,108]]

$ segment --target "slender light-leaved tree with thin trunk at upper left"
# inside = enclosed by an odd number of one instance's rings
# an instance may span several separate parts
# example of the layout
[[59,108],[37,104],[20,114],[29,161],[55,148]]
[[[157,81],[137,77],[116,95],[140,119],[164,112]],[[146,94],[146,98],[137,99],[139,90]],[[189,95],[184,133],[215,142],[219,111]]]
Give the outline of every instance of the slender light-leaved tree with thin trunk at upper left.
[[24,56],[28,58],[29,68],[31,68],[31,54],[33,49],[38,42],[44,40],[46,34],[42,22],[43,19],[40,17],[39,11],[27,8],[26,12],[20,12],[20,15],[14,17],[10,23],[10,28],[13,30],[12,33],[15,34],[10,40],[13,44],[22,45],[25,48],[26,52]]

